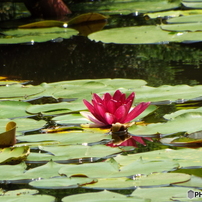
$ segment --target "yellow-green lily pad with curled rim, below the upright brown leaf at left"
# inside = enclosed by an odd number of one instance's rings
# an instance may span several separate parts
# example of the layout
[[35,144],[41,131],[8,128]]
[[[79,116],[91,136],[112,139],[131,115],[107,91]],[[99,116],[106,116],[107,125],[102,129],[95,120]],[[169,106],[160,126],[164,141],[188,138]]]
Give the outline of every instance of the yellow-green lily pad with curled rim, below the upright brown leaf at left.
[[21,162],[27,158],[29,153],[30,150],[28,146],[0,149],[0,163]]

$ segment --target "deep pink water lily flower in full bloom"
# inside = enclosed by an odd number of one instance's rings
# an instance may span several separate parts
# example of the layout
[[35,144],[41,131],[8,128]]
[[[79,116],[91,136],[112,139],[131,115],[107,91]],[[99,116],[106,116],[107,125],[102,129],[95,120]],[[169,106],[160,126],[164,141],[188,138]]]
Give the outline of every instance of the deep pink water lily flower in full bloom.
[[103,97],[93,94],[92,103],[83,100],[90,112],[80,112],[84,117],[94,122],[97,127],[111,126],[114,123],[127,123],[140,115],[150,104],[141,102],[132,107],[135,93],[132,92],[127,98],[120,90],[114,95],[105,93]]

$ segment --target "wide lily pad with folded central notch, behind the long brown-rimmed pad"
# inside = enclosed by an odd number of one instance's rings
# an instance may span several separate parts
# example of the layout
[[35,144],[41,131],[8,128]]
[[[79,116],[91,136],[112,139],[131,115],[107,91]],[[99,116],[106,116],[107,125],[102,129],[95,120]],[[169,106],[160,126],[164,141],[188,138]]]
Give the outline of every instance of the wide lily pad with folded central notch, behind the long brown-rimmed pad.
[[120,167],[119,162],[110,159],[106,162],[83,164],[79,166],[67,165],[59,170],[60,174],[68,177],[82,174],[91,178],[126,177],[136,174],[168,171],[177,164],[173,161],[142,161],[137,160],[127,166]]

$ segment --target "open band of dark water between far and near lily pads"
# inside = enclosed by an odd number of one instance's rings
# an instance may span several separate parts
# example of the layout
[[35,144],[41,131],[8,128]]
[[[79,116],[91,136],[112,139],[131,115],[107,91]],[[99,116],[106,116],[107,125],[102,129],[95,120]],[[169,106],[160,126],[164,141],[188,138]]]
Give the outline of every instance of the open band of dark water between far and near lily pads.
[[144,79],[149,85],[201,84],[200,44],[103,44],[75,36],[62,42],[1,45],[1,75],[35,84],[85,78]]

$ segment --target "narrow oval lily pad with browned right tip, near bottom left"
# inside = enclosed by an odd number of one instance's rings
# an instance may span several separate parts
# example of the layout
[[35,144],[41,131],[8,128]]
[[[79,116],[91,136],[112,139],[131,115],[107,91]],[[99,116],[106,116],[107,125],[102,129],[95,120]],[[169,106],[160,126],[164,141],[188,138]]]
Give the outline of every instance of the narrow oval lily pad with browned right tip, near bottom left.
[[85,184],[95,183],[96,179],[86,177],[57,177],[30,182],[29,185],[38,189],[71,189]]

